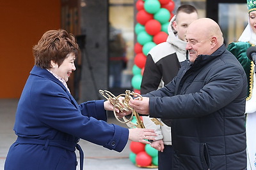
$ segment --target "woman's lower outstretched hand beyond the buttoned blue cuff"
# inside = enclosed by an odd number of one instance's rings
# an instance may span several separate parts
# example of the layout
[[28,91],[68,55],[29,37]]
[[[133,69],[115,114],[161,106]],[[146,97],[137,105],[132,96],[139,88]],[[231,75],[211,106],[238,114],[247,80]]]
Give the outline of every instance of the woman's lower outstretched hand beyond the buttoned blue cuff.
[[150,142],[145,139],[155,141],[156,138],[154,138],[154,136],[157,136],[157,134],[153,129],[129,129],[129,140],[131,141],[150,144]]

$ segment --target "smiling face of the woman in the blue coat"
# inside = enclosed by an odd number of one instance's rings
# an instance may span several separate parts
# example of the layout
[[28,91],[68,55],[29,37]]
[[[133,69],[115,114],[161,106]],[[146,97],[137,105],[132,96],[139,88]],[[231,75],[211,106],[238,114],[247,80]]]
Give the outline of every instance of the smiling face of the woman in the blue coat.
[[66,59],[63,60],[60,66],[58,66],[57,62],[54,62],[51,60],[51,64],[52,64],[51,71],[54,74],[57,74],[58,76],[60,76],[60,78],[63,78],[63,80],[67,82],[72,71],[76,70],[76,66],[74,64],[75,59],[76,59],[76,55],[74,55],[74,53],[70,53],[67,55]]

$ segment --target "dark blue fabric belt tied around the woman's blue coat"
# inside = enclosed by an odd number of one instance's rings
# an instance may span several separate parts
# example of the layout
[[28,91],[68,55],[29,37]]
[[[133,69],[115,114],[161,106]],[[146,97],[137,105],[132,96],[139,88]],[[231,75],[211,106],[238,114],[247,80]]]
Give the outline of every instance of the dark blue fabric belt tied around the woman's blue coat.
[[75,152],[75,150],[77,149],[80,156],[80,169],[83,170],[84,153],[81,146],[77,143],[51,139],[23,138],[20,136],[18,136],[16,142],[20,144],[44,145],[44,150],[46,150],[47,146],[59,147],[65,150],[69,150],[71,152]]

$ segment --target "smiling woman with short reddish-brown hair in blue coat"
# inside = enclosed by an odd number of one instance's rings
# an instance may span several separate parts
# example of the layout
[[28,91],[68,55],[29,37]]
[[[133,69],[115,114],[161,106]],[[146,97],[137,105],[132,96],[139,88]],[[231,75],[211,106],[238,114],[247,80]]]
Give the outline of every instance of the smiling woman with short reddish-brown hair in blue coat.
[[[109,101],[77,104],[67,87],[79,47],[64,30],[45,32],[33,47],[35,66],[22,91],[14,125],[17,140],[4,169],[76,169],[79,138],[122,152],[127,140],[149,143],[153,130],[126,129],[106,123]],[[146,136],[146,138],[145,138]]]

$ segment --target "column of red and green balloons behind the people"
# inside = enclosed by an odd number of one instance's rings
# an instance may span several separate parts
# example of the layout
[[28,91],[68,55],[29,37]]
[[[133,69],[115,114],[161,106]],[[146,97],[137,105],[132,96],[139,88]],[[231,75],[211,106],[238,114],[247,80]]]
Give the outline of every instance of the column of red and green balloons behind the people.
[[[137,42],[134,45],[134,66],[132,67],[132,88],[140,94],[142,75],[147,54],[168,37],[168,25],[173,17],[175,3],[172,0],[138,0],[136,2],[135,33]],[[132,120],[136,121],[136,120]],[[150,145],[131,142],[129,159],[138,167],[158,166],[157,150]]]

